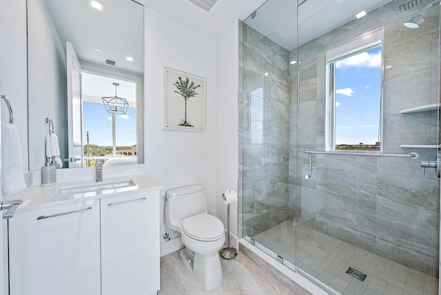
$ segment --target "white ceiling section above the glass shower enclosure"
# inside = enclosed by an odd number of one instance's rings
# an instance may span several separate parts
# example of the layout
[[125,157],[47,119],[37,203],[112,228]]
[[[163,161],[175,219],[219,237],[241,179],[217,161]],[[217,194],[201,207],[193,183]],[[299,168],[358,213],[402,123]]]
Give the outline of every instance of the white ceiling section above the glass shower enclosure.
[[[298,0],[299,43],[304,44],[356,19],[358,12],[383,6],[391,0]],[[287,50],[296,48],[296,2],[269,0],[256,10],[256,17],[245,20]]]

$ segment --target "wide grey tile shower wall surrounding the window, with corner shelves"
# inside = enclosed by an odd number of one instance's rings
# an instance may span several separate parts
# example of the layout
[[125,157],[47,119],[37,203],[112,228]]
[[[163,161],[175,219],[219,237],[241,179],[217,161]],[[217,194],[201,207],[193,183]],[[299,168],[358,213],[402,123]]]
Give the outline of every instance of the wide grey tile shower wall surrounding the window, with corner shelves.
[[[400,110],[438,103],[440,12],[428,10],[424,25],[411,30],[402,23],[430,1],[422,0],[421,7],[406,13],[400,11],[401,2],[393,0],[290,52],[298,54],[301,63],[298,99],[297,70],[289,70],[290,154],[297,152],[299,139],[298,167],[289,167],[289,182],[290,190],[298,192],[298,222],[435,276],[438,179],[433,170],[422,177],[420,161],[434,160],[436,149],[400,145],[437,144],[438,112]],[[383,149],[418,152],[420,157],[314,155],[314,176],[305,180],[309,158],[302,150],[325,149],[325,52],[378,28],[384,28],[384,63],[391,65],[383,80]],[[300,114],[294,121],[297,108]]]

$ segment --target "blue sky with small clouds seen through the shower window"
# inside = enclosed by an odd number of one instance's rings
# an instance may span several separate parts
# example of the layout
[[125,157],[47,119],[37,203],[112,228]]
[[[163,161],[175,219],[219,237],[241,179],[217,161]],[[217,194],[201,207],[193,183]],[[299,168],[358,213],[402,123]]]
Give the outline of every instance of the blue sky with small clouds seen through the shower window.
[[378,141],[381,47],[337,61],[336,144]]

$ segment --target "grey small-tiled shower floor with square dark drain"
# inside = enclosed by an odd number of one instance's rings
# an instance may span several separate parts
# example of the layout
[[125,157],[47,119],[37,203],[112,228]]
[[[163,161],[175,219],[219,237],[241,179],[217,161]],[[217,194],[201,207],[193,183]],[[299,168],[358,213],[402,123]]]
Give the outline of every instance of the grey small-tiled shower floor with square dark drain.
[[[284,221],[254,236],[254,240],[295,265],[295,233],[295,223]],[[432,276],[304,225],[298,225],[297,234],[298,267],[340,294],[435,294],[438,280]],[[346,274],[349,267],[367,274],[365,281]]]

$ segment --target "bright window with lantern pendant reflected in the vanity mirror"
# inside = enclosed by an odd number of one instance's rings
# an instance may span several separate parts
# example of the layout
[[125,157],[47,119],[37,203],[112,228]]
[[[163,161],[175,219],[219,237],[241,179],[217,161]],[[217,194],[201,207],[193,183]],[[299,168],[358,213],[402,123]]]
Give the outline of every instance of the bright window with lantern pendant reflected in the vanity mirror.
[[[107,112],[102,96],[126,99],[125,114]],[[85,167],[136,163],[136,83],[90,72],[83,73],[83,151]],[[114,121],[114,124],[113,124]]]

